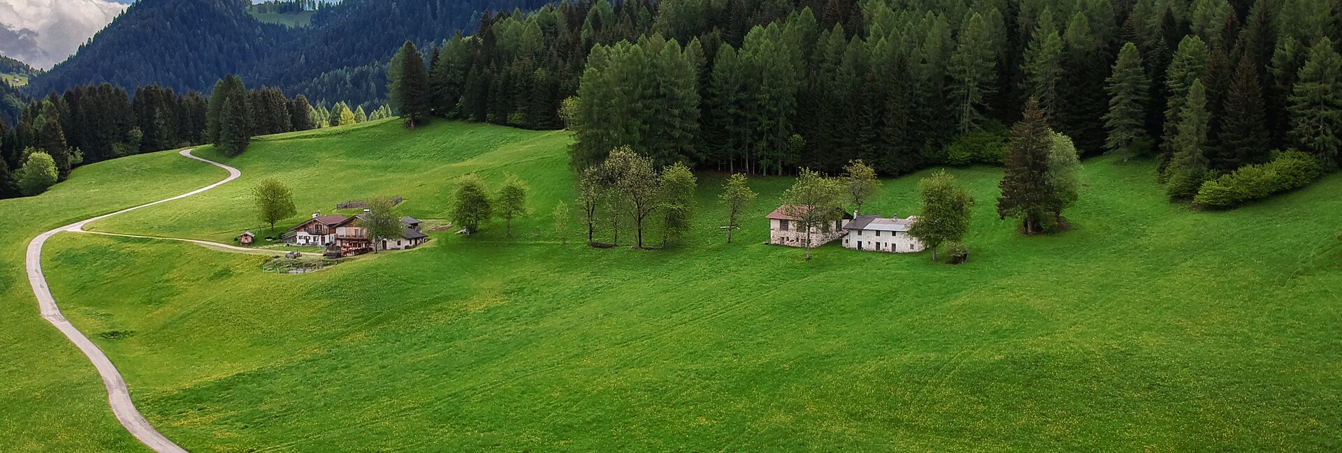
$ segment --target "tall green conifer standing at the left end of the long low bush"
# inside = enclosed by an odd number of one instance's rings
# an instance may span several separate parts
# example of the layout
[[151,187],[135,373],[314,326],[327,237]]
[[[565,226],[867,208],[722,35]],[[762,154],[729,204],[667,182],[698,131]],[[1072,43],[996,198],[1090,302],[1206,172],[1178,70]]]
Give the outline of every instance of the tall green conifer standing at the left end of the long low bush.
[[1174,138],[1170,139],[1169,181],[1165,192],[1170,200],[1188,200],[1208,177],[1208,129],[1210,113],[1206,110],[1206,88],[1201,79],[1193,79],[1178,114]]

